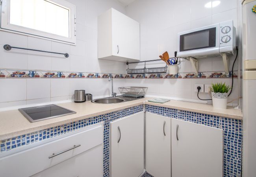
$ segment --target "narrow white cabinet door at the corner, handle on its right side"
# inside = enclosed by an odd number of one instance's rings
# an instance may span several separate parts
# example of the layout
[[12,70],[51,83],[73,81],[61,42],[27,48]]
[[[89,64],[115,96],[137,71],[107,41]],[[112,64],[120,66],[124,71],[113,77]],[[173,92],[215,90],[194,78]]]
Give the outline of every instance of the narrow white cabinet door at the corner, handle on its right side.
[[146,113],[146,170],[154,177],[171,177],[171,118]]

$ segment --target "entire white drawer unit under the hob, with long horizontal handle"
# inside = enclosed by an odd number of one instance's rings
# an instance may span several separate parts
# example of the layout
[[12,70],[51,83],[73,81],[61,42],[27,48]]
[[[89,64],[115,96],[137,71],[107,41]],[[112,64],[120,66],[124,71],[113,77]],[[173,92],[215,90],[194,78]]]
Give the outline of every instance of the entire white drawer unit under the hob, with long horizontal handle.
[[[50,158],[53,153],[56,156]],[[0,171],[4,177],[102,177],[103,125],[90,125],[1,153]]]

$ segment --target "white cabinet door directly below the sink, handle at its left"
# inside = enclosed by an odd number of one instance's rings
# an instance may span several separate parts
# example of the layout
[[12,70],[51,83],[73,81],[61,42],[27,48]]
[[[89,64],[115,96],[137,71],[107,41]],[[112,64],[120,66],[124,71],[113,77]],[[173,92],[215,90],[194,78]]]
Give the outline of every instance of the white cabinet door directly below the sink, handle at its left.
[[144,171],[144,112],[110,123],[110,176],[138,177]]

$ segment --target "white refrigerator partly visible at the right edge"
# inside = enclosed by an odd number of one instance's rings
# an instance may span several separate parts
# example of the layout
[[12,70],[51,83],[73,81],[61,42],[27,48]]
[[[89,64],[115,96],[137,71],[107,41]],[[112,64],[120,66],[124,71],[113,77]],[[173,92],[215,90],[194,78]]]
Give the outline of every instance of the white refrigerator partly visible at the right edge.
[[243,1],[243,177],[256,177],[256,0]]

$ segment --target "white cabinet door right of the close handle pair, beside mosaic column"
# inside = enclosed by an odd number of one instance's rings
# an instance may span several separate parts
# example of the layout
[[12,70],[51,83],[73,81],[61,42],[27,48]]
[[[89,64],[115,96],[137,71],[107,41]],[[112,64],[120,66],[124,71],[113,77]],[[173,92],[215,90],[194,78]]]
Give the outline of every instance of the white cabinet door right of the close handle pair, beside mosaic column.
[[172,177],[222,177],[223,130],[171,120]]

